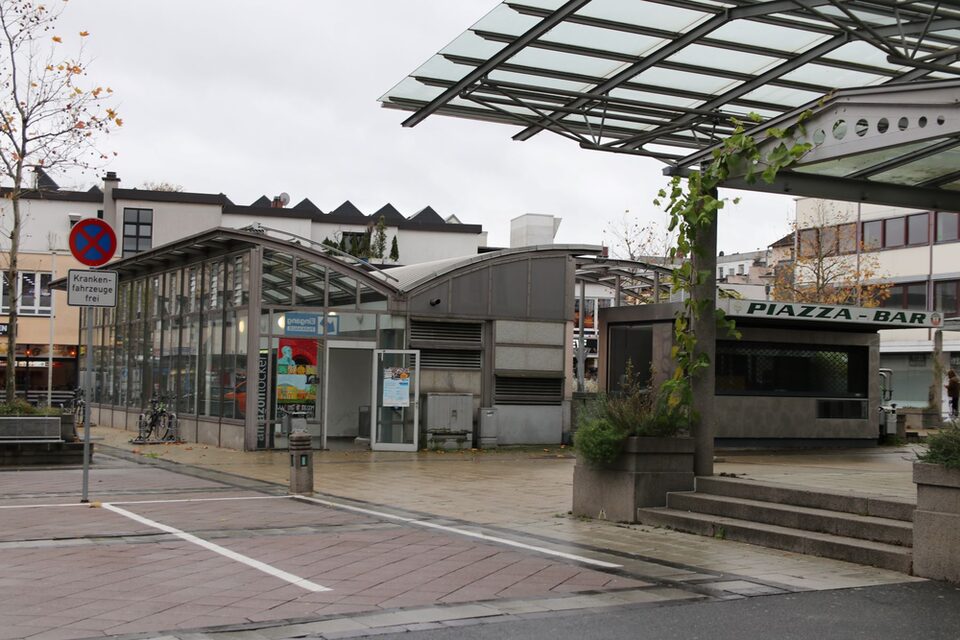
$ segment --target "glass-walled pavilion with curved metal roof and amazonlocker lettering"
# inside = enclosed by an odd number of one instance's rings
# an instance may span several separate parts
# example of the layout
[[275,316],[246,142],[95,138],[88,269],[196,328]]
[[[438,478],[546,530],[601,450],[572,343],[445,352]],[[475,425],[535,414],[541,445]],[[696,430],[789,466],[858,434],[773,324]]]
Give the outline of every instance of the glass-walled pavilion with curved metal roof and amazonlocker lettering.
[[321,448],[416,450],[423,400],[459,394],[471,428],[480,407],[509,419],[502,444],[561,442],[575,256],[593,247],[381,271],[304,244],[216,229],[109,265],[120,288],[93,314],[94,421],[132,430],[162,396],[188,441],[282,448],[301,426]]

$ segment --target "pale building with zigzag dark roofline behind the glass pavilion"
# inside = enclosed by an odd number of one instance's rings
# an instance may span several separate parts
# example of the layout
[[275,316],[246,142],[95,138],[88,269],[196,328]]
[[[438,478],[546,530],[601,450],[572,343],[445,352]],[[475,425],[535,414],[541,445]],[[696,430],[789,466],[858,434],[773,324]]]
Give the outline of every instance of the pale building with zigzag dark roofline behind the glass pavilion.
[[[4,194],[9,190],[3,190]],[[103,186],[89,191],[60,189],[46,175],[21,199],[23,233],[20,249],[18,346],[15,359],[17,390],[33,401],[44,401],[48,387],[53,401],[72,396],[77,384],[79,313],[65,296],[52,296],[50,282],[68,269],[84,268],[71,256],[68,240],[74,224],[83,218],[108,221],[117,234],[117,257],[129,257],[205,230],[230,227],[277,229],[301,238],[324,242],[360,253],[369,243],[378,221],[384,221],[382,258],[372,262],[397,266],[474,255],[486,245],[479,225],[462,224],[454,216],[442,218],[431,207],[407,217],[386,204],[364,213],[349,201],[329,212],[304,198],[287,206],[285,197],[259,198],[250,205],[234,204],[223,194],[125,189],[113,172]],[[0,199],[0,224],[9,228],[11,204]],[[391,250],[396,247],[396,259]],[[7,246],[0,246],[0,257]],[[10,287],[0,281],[0,333],[9,326]],[[0,340],[0,383],[7,373],[6,341]]]

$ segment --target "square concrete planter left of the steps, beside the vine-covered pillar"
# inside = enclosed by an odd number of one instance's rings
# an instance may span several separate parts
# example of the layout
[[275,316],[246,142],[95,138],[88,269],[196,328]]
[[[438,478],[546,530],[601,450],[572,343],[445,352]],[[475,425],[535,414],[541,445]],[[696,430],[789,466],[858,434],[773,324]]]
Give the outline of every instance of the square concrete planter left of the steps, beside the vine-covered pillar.
[[573,513],[636,522],[640,507],[662,507],[669,491],[693,491],[692,438],[628,438],[613,464],[597,467],[577,456]]

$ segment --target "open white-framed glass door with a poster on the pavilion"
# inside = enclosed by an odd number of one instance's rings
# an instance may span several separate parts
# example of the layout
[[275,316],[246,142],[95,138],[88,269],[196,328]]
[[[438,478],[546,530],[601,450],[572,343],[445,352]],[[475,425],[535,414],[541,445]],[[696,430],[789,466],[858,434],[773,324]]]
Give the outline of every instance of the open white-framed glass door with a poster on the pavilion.
[[420,425],[420,352],[378,349],[373,353],[374,407],[370,447],[416,451]]

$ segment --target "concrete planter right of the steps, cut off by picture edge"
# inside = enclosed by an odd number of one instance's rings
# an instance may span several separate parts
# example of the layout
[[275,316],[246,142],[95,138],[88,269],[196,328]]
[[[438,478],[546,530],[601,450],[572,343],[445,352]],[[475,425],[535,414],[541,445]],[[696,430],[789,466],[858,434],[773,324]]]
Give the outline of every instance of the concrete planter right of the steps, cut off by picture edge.
[[913,573],[960,582],[960,470],[916,462]]

